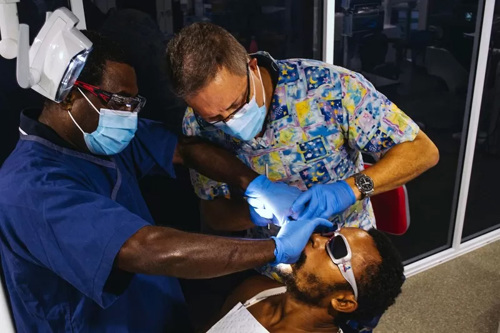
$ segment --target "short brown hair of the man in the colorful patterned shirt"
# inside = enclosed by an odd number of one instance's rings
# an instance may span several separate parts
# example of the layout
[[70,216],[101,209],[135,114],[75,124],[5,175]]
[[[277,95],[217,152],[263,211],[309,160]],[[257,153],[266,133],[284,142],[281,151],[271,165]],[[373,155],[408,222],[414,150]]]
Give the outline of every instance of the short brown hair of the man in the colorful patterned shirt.
[[192,96],[225,67],[246,75],[248,54],[224,28],[209,22],[184,27],[167,44],[167,76],[179,97]]

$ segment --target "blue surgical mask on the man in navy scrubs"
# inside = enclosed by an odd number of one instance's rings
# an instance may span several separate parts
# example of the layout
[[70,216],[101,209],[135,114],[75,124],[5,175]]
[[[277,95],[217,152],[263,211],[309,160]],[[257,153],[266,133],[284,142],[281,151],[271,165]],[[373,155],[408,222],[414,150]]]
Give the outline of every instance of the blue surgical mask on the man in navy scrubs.
[[[81,92],[81,91],[80,91]],[[128,146],[134,138],[137,130],[137,112],[119,111],[101,108],[100,111],[90,102],[83,93],[82,95],[99,113],[99,124],[92,133],[86,133],[75,121],[68,110],[71,120],[83,133],[85,144],[90,152],[97,155],[115,155]]]

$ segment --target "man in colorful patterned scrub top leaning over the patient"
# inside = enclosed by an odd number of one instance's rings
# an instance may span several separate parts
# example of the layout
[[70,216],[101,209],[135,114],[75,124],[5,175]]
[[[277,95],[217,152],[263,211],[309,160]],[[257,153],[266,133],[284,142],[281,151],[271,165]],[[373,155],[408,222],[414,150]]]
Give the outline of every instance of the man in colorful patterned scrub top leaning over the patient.
[[[361,74],[311,59],[248,54],[208,22],[182,29],[167,46],[172,90],[188,104],[183,132],[234,152],[297,197],[261,206],[191,170],[205,225],[218,231],[274,235],[287,218],[319,216],[337,227],[376,227],[369,197],[433,167],[434,143]],[[364,170],[362,154],[377,161]],[[280,216],[273,205],[280,206]],[[289,211],[283,211],[288,207]],[[279,280],[274,267],[260,271]],[[370,331],[371,323],[352,323]]]

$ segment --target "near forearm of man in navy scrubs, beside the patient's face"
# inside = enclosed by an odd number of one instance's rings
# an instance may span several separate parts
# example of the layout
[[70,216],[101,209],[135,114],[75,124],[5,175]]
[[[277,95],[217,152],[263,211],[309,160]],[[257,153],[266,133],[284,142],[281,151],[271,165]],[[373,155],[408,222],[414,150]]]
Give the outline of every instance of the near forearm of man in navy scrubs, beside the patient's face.
[[246,240],[147,226],[120,249],[118,268],[134,273],[201,279],[272,262],[272,239]]

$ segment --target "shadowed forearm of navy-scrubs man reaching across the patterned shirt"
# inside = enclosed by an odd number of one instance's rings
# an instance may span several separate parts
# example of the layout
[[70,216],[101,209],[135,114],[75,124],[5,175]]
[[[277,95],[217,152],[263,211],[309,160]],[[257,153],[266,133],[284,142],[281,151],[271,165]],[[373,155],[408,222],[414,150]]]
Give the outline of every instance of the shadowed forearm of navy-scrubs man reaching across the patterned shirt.
[[213,180],[245,190],[258,173],[232,153],[194,138],[179,138],[183,164]]

